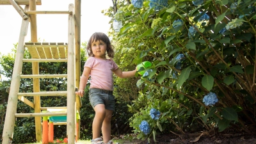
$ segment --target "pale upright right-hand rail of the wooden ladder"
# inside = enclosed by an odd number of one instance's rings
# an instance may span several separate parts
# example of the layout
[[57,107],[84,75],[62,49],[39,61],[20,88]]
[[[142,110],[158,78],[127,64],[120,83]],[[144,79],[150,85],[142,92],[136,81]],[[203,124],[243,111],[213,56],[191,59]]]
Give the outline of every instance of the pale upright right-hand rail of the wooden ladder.
[[[69,4],[68,10],[74,12],[74,5]],[[75,24],[74,14],[68,15],[68,79],[67,79],[67,137],[68,144],[75,143],[76,134],[76,65],[75,65]]]

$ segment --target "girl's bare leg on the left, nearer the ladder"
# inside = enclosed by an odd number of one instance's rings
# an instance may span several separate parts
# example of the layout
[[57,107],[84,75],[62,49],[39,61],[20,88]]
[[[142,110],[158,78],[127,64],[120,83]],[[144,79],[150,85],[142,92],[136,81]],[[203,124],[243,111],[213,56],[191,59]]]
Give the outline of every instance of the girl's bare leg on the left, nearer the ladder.
[[102,122],[106,117],[106,109],[104,104],[97,104],[94,107],[95,116],[92,122],[92,139],[100,138],[100,128],[102,127]]

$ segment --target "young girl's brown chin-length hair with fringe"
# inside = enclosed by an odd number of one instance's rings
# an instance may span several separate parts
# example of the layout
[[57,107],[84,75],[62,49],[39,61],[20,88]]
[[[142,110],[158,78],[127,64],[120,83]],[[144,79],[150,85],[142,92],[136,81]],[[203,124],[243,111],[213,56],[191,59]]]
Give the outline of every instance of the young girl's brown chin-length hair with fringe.
[[113,49],[113,45],[111,45],[110,40],[108,38],[107,35],[105,35],[104,33],[93,33],[93,35],[90,37],[89,42],[87,44],[86,47],[86,52],[89,56],[94,56],[93,52],[92,52],[92,42],[97,42],[98,40],[101,40],[102,42],[106,43],[107,45],[107,53],[108,53],[108,57],[109,58],[114,58],[114,49]]

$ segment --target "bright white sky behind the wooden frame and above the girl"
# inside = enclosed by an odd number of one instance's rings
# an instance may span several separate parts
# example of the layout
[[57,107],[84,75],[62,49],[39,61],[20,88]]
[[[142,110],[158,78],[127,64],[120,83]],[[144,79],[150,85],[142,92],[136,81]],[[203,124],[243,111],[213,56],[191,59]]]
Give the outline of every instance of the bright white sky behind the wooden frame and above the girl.
[[[74,0],[41,0],[42,5],[37,5],[38,11],[68,11],[68,4],[75,4]],[[81,44],[87,42],[95,32],[108,33],[110,18],[101,13],[109,6],[111,0],[81,0]],[[24,6],[21,6],[24,8]],[[12,5],[0,5],[0,52],[8,54],[13,49],[13,44],[19,41],[22,17]],[[66,42],[68,36],[68,15],[38,14],[37,38],[39,42]],[[30,25],[25,42],[29,42]]]

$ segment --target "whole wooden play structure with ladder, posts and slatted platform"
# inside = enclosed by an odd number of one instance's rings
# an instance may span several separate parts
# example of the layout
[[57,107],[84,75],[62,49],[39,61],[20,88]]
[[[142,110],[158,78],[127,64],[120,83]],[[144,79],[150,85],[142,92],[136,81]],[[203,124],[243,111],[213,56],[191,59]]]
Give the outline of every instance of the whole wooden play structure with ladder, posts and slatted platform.
[[[81,0],[70,0],[70,2],[69,6],[67,6],[67,11],[60,12],[36,11],[36,5],[41,5],[43,3],[41,0],[0,0],[0,4],[12,4],[13,8],[15,8],[21,16],[20,20],[22,20],[4,122],[3,144],[12,143],[13,130],[17,117],[35,116],[36,141],[49,143],[49,140],[47,140],[48,136],[45,136],[44,134],[49,134],[53,131],[52,124],[67,125],[68,143],[75,143],[76,138],[79,138],[79,119],[77,119],[77,113],[80,113],[81,100],[75,92],[76,87],[79,87],[80,79]],[[24,5],[24,9],[22,8],[22,5]],[[38,43],[36,28],[36,15],[38,14],[56,14],[56,18],[58,18],[58,14],[67,15],[68,42]],[[28,33],[29,22],[31,29],[31,42],[25,43],[24,41]],[[25,49],[28,49],[32,57],[31,59],[24,58]],[[32,75],[22,75],[22,64],[25,62],[32,63]],[[67,62],[67,74],[41,75],[38,67],[40,62]],[[45,92],[45,90],[40,90],[40,78],[54,77],[67,77],[67,91]],[[32,93],[19,92],[20,79],[22,78],[33,79]],[[31,96],[34,97],[33,102],[26,99],[26,97]],[[42,96],[65,96],[67,97],[67,107],[42,108],[40,102],[40,97]],[[35,109],[35,113],[17,113],[18,100],[21,100],[31,108]],[[47,109],[57,109],[57,112],[52,113]],[[59,112],[58,109],[60,110]],[[66,122],[53,122],[48,124],[47,116],[66,116],[67,120]],[[43,117],[44,120],[46,117],[46,124],[44,124],[46,126],[42,128]],[[49,125],[49,129],[47,125]],[[51,132],[48,132],[49,130]]]

